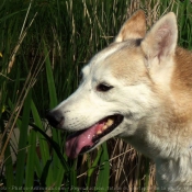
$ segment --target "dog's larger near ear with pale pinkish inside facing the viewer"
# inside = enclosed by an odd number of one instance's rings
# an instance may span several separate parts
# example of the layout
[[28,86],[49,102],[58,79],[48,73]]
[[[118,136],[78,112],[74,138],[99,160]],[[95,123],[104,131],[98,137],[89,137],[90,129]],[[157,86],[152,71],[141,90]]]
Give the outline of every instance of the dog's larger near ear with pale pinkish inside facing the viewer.
[[174,13],[162,16],[142,41],[142,49],[147,60],[167,59],[174,54],[178,39],[178,27]]

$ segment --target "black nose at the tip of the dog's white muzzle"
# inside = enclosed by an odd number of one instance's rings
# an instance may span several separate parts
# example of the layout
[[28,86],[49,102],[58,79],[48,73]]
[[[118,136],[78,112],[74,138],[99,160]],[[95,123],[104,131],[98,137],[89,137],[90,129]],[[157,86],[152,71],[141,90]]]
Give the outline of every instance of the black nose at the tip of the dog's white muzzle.
[[48,123],[54,127],[59,127],[64,123],[64,116],[59,111],[49,111],[46,115]]

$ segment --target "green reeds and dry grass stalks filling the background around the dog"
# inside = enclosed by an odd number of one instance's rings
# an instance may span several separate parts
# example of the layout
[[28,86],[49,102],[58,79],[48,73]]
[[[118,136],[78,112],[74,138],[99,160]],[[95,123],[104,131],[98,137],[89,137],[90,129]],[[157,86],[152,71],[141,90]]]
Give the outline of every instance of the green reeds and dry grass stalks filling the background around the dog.
[[67,134],[44,117],[138,9],[148,29],[173,11],[179,45],[192,48],[190,0],[1,0],[0,191],[158,190],[153,162],[129,145],[111,139],[69,160]]

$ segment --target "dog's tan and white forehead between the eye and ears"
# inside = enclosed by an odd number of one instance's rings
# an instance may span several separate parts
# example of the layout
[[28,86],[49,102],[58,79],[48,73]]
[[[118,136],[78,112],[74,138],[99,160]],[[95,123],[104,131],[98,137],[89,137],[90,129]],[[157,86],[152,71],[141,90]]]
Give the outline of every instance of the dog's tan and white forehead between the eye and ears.
[[137,75],[145,76],[144,55],[139,44],[140,39],[111,44],[90,60],[83,74],[93,72],[97,77],[111,74],[129,81],[134,81]]

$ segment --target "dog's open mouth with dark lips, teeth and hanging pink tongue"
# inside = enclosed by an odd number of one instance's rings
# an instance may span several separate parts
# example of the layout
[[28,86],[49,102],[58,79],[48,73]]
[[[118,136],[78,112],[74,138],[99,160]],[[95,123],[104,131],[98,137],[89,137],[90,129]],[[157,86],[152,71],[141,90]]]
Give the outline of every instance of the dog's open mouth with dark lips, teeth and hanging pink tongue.
[[91,127],[69,135],[66,142],[66,154],[69,158],[76,158],[79,154],[93,148],[100,139],[116,128],[123,121],[120,114],[111,115],[99,121]]

